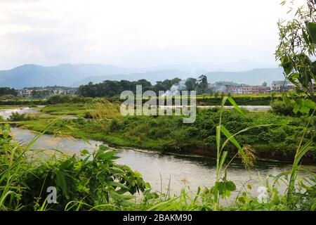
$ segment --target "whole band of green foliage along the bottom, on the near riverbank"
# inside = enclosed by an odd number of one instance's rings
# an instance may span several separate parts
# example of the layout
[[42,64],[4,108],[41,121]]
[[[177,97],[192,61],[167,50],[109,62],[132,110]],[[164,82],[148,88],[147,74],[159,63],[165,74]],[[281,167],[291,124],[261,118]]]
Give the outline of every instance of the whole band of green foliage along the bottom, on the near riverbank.
[[[184,188],[180,195],[157,193],[138,172],[117,165],[115,151],[100,146],[94,153],[67,156],[56,153],[45,157],[11,141],[9,127],[1,127],[0,136],[0,210],[315,210],[316,176],[312,172],[299,179],[287,195],[279,194],[278,183],[288,183],[284,174],[267,180],[267,198],[251,197],[249,185],[240,190],[232,205],[220,205],[230,198],[235,184],[226,173],[213,187],[197,193]],[[281,179],[283,181],[281,181]],[[296,178],[297,179],[297,178]],[[287,181],[288,180],[288,181]],[[57,188],[58,204],[48,204],[46,189]],[[218,193],[214,195],[214,190]],[[142,193],[138,195],[138,193]],[[135,196],[138,198],[135,199]],[[217,197],[216,197],[217,196]]]

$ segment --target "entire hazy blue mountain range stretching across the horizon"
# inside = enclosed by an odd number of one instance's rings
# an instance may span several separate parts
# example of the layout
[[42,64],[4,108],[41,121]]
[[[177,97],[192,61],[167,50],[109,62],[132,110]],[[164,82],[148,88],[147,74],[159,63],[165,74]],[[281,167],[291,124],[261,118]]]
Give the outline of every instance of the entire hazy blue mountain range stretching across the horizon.
[[[219,70],[213,65],[192,63],[190,65],[165,65],[152,68],[123,68],[104,64],[61,64],[57,66],[41,66],[26,64],[11,70],[0,70],[0,86],[22,89],[30,86],[73,86],[88,82],[98,83],[103,80],[138,80],[147,79],[153,84],[164,79],[179,77],[199,77],[206,75],[208,81],[231,81],[239,84],[270,84],[274,80],[282,80],[284,76],[279,68],[247,67],[246,62],[232,63],[230,70]],[[259,65],[259,64],[258,64]],[[218,65],[217,67],[225,67]],[[263,65],[264,66],[264,65]],[[235,71],[231,71],[235,67]],[[250,68],[242,70],[242,68]]]

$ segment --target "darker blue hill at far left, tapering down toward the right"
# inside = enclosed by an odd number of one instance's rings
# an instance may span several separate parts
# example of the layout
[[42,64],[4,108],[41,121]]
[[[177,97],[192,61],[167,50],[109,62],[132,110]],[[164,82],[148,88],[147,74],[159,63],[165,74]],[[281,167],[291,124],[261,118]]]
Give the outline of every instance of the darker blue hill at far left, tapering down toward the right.
[[62,64],[52,67],[27,64],[12,70],[1,70],[0,86],[10,86],[15,89],[22,89],[25,86],[70,86],[86,77],[142,71],[142,69],[126,69],[103,64]]

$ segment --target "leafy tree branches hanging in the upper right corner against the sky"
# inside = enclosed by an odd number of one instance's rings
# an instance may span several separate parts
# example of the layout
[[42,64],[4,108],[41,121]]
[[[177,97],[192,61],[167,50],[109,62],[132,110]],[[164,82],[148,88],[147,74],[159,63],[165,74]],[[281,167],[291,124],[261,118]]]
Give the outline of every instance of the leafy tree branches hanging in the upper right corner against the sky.
[[[316,3],[315,0],[305,2],[306,4],[298,7],[296,11],[294,3],[289,2],[289,13],[294,13],[294,18],[279,21],[280,41],[275,52],[285,78],[296,85],[296,89],[289,93],[289,97],[296,103],[296,113],[308,113],[310,109],[315,108],[316,102],[313,93],[316,82]],[[288,4],[287,0],[282,2],[282,5],[285,4]],[[288,94],[284,94],[284,100],[289,104]]]

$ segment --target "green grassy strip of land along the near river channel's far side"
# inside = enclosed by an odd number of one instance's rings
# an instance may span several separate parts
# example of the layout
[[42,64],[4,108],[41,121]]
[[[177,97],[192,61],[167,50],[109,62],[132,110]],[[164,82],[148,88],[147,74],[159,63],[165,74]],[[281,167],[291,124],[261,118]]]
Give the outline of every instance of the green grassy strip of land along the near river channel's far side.
[[[114,105],[114,106],[113,106]],[[218,109],[198,110],[193,124],[183,124],[179,116],[128,116],[121,117],[119,105],[112,103],[62,103],[41,108],[36,120],[22,121],[22,126],[42,131],[52,122],[47,132],[106,141],[116,146],[129,146],[173,153],[198,154],[213,157],[216,154],[216,123]],[[78,119],[67,117],[79,117]],[[88,117],[83,119],[82,117]],[[96,120],[91,120],[95,117]],[[237,132],[256,124],[278,124],[252,129],[236,137],[242,145],[256,150],[258,158],[290,160],[295,155],[298,139],[307,123],[308,116],[290,117],[270,112],[239,115],[235,110],[225,110],[223,124],[230,132]],[[315,117],[312,119],[315,121]],[[315,135],[312,126],[308,135]],[[228,144],[230,154],[236,153],[235,146]],[[305,161],[315,161],[315,151]]]

